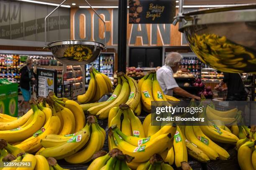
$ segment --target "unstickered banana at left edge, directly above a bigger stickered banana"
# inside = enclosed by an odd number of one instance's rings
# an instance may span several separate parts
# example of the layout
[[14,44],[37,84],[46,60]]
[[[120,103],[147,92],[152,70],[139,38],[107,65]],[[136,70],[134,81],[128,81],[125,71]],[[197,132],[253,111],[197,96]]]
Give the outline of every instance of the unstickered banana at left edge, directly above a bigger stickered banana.
[[29,117],[31,117],[31,115],[33,115],[32,109],[17,120],[13,120],[11,122],[0,122],[0,130],[12,130],[18,128],[24,125],[28,121]]

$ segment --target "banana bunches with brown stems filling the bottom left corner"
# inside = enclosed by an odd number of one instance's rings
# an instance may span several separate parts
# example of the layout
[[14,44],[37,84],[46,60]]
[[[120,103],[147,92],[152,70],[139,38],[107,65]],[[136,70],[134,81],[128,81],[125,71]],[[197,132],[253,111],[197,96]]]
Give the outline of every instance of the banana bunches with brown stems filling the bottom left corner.
[[[26,153],[3,139],[0,139],[0,153],[0,162],[9,163],[9,165],[4,165],[1,170],[68,170],[61,168],[54,158],[46,159],[42,155]],[[22,166],[17,165],[22,162],[24,162]]]

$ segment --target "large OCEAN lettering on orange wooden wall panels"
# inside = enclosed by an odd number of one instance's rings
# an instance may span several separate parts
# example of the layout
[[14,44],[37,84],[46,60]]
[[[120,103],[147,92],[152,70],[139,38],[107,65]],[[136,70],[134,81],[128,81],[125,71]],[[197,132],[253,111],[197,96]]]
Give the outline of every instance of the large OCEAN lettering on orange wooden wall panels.
[[[96,9],[106,22],[106,34],[102,21],[91,9],[71,9],[71,39],[92,40],[107,46],[118,44],[118,9]],[[171,24],[127,24],[128,46],[179,46],[181,33],[178,25]]]

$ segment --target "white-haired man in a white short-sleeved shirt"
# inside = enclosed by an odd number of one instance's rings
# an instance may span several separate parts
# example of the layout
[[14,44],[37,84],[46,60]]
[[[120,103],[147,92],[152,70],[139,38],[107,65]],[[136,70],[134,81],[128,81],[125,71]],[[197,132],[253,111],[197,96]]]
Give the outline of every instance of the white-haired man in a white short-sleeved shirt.
[[173,92],[182,97],[191,97],[200,100],[200,97],[190,94],[180,88],[173,77],[174,72],[177,72],[181,64],[182,56],[177,52],[172,52],[167,55],[165,65],[159,68],[156,72],[157,80],[166,95],[173,95]]

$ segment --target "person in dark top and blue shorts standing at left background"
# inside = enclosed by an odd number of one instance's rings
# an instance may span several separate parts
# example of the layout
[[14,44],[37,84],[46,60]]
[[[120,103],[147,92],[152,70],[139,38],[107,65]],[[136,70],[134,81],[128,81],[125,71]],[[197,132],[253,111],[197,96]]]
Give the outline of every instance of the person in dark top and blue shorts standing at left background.
[[28,58],[26,60],[26,65],[24,65],[20,69],[20,91],[22,92],[22,96],[24,100],[20,103],[19,107],[22,108],[24,105],[25,111],[24,113],[28,112],[30,105],[28,101],[31,99],[31,82],[35,79],[35,74],[32,70],[33,60]]

